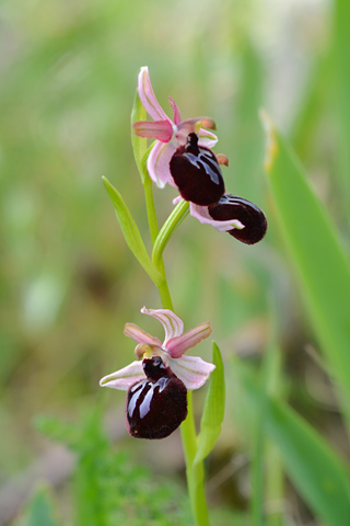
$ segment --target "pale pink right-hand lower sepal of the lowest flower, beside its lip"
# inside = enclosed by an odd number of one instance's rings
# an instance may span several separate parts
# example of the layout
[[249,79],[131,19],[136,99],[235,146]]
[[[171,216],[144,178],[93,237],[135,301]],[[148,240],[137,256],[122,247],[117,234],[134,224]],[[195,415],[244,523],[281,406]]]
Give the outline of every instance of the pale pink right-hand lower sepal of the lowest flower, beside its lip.
[[170,358],[172,371],[185,384],[188,391],[199,389],[206,384],[209,375],[215,366],[209,364],[198,356],[182,356],[180,358]]

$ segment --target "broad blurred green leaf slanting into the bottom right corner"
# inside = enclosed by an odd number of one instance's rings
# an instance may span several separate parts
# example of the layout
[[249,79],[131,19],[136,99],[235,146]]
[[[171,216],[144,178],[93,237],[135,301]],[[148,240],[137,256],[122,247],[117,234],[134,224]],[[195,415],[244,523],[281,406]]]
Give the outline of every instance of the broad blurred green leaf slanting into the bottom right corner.
[[266,435],[276,444],[289,477],[310,507],[328,526],[350,524],[350,473],[345,461],[294,410],[267,396],[238,358],[233,375],[243,388],[245,409],[255,418],[262,414]]

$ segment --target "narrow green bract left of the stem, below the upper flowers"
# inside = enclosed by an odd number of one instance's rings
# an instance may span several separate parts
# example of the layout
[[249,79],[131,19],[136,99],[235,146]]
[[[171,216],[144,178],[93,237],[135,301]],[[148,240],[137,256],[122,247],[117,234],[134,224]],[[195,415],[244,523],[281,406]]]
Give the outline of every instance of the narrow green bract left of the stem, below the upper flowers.
[[119,192],[105,178],[102,178],[104,185],[108,192],[110,201],[116,211],[116,216],[121,228],[125,240],[138,260],[140,265],[144,268],[148,275],[155,284],[161,284],[164,278],[162,274],[152,264],[149,254],[145,250],[140,231],[127,207]]

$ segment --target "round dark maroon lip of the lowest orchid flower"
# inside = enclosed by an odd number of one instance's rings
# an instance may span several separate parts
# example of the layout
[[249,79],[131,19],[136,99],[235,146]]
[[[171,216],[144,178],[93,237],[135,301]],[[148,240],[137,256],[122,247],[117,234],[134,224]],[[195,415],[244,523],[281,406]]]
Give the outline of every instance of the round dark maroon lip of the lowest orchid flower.
[[127,426],[137,438],[165,438],[187,416],[187,389],[160,356],[143,359],[144,380],[127,395]]

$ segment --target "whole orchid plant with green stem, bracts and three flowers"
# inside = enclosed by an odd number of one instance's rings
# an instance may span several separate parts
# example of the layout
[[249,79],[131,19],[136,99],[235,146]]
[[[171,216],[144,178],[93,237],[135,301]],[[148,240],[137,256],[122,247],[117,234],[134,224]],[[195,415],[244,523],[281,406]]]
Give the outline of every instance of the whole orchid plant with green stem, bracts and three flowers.
[[[124,332],[137,342],[137,361],[105,376],[100,384],[127,390],[126,419],[131,436],[165,438],[180,426],[195,524],[209,526],[203,459],[211,451],[221,432],[224,408],[223,364],[220,350],[214,343],[213,363],[207,363],[199,356],[184,355],[187,350],[211,334],[211,325],[207,321],[184,332],[183,321],[174,313],[163,252],[188,214],[219,231],[240,231],[247,226],[250,231],[252,228],[256,230],[256,215],[259,209],[256,210],[255,205],[246,199],[224,193],[220,164],[228,164],[226,158],[217,157],[211,151],[210,148],[218,138],[201,127],[214,129],[213,121],[209,117],[182,121],[175,102],[170,99],[170,103],[174,113],[173,119],[164,113],[155,99],[148,68],[141,68],[131,115],[131,140],[144,191],[152,258],[121,195],[104,179],[126,242],[161,297],[163,309],[149,310],[143,307],[141,312],[153,316],[163,324],[165,339],[162,343],[138,325],[127,323]],[[145,121],[147,113],[153,122]],[[149,148],[148,138],[156,139]],[[177,187],[180,194],[174,199],[173,203],[177,205],[161,229],[158,225],[152,182],[161,188],[170,184]],[[212,210],[210,207],[215,208]],[[241,217],[236,214],[237,208],[241,216],[244,213],[245,225],[237,218]],[[258,220],[261,222],[260,217]],[[261,233],[259,236],[261,237]],[[249,242],[252,236],[247,237],[247,241],[240,240]],[[200,432],[197,435],[191,391],[200,388],[208,379],[209,389]]]

